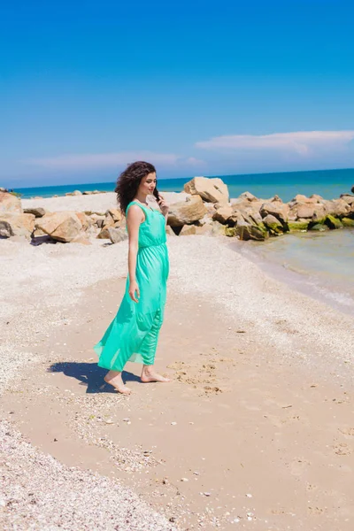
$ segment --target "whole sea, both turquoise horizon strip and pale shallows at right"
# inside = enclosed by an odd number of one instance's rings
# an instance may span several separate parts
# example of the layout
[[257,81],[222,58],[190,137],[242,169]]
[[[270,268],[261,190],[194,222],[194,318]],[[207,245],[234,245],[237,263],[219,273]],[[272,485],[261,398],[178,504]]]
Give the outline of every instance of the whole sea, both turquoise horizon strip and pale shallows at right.
[[[227,184],[230,197],[249,191],[265,199],[277,194],[284,202],[296,194],[333,199],[350,193],[354,186],[354,169],[211,177],[219,177]],[[180,192],[190,179],[158,179],[158,189]],[[15,191],[28,198],[64,196],[73,190],[113,191],[114,187],[114,182],[95,182]],[[294,289],[354,316],[354,229],[282,235],[266,242],[238,242],[233,248]]]

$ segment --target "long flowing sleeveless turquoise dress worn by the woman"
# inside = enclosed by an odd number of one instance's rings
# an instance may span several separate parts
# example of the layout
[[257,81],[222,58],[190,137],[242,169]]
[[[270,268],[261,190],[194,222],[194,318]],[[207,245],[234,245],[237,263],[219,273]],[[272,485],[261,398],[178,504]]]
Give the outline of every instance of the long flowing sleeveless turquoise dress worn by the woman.
[[145,220],[139,227],[136,257],[139,302],[135,303],[129,296],[128,275],[126,292],[117,315],[94,347],[99,357],[98,366],[112,371],[122,371],[127,361],[153,365],[164,320],[169,273],[165,216],[137,201],[127,205],[127,212],[132,204],[138,204],[145,214]]

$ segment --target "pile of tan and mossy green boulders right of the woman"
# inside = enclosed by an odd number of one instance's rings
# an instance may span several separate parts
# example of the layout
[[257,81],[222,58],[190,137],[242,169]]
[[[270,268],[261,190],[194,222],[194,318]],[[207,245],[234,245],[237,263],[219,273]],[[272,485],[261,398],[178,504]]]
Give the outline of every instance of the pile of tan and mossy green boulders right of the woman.
[[350,194],[333,200],[297,195],[283,203],[279,196],[260,199],[244,192],[230,202],[226,184],[205,177],[195,177],[184,190],[189,196],[170,206],[170,234],[264,241],[269,236],[297,231],[354,227],[354,195]]

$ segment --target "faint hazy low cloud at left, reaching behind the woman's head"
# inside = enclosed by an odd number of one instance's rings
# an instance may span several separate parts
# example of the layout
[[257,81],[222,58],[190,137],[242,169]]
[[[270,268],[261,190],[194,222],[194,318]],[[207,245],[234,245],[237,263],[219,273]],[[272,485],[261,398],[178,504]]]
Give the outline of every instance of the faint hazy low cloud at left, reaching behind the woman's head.
[[111,168],[129,164],[135,160],[146,160],[156,165],[173,166],[178,157],[172,153],[153,153],[152,151],[124,151],[120,153],[93,153],[85,155],[58,155],[50,158],[29,158],[27,164],[59,170],[89,170]]

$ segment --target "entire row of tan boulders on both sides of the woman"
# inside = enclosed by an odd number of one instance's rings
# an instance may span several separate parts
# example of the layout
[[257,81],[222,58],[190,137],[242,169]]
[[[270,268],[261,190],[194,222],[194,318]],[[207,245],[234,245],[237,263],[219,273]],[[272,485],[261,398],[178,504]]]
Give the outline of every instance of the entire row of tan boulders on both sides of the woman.
[[[172,196],[166,232],[173,236],[224,235],[264,241],[270,236],[296,231],[354,227],[354,194],[342,194],[330,201],[317,195],[297,195],[289,203],[283,203],[279,196],[260,199],[244,192],[230,201],[223,181],[195,177],[185,184],[184,193]],[[72,200],[67,198],[68,205]],[[18,237],[33,243],[90,244],[92,238],[118,243],[127,239],[127,230],[119,208],[104,212],[47,212],[36,205],[23,210],[17,196],[0,189],[1,237]]]

